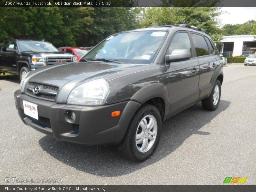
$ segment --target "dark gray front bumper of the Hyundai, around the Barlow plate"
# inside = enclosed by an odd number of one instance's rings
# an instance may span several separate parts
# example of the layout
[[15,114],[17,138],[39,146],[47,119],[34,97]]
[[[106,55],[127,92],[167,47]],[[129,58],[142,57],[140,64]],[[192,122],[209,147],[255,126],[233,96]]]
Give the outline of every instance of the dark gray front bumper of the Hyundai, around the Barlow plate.
[[[124,137],[132,116],[141,106],[136,101],[124,101],[105,106],[76,106],[57,104],[21,94],[14,93],[15,104],[22,121],[44,134],[84,145],[115,145]],[[39,119],[24,114],[23,100],[34,103],[38,108]],[[120,116],[111,117],[111,112],[121,111]],[[67,121],[67,111],[74,111],[76,121]]]

